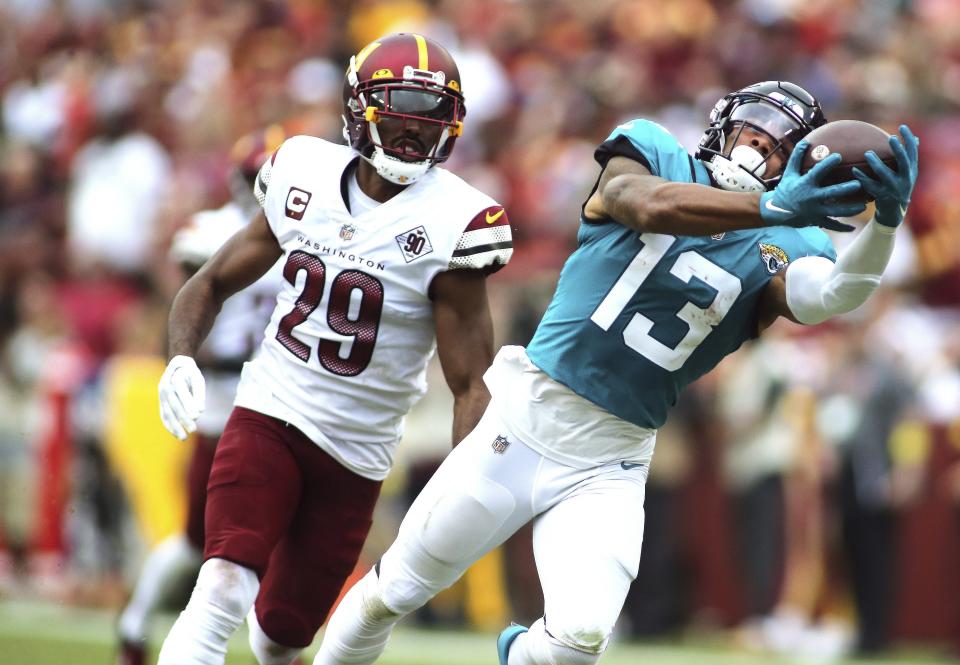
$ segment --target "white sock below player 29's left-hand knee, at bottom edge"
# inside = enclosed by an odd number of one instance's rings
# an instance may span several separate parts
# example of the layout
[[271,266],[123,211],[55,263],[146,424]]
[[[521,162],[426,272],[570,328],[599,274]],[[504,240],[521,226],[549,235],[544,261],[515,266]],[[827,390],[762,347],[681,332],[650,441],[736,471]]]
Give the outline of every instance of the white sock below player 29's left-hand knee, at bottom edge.
[[224,559],[204,563],[190,602],[163,641],[157,665],[223,665],[227,641],[259,588],[257,574],[249,568]]

